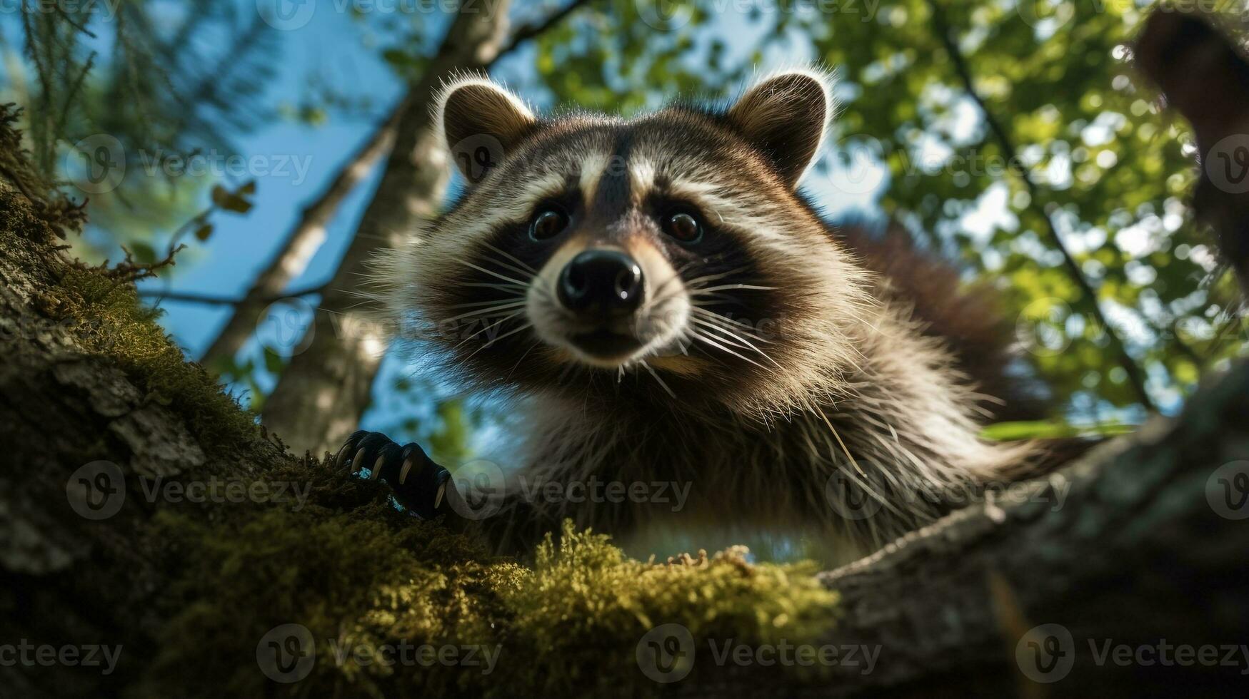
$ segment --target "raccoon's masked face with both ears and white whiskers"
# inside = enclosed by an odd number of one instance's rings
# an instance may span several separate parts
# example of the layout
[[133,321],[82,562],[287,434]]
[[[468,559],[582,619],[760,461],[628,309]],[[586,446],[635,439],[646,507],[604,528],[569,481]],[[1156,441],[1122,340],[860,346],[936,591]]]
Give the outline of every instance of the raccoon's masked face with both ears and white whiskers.
[[862,272],[794,191],[832,111],[824,76],[629,121],[537,119],[480,79],[436,109],[470,183],[385,276],[467,376],[772,406],[847,366]]

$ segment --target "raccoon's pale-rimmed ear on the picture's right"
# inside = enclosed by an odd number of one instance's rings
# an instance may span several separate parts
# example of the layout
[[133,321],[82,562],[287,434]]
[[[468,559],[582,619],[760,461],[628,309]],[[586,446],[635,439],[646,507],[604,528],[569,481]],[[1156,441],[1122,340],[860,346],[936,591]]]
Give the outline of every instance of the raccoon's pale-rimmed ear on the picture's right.
[[833,112],[828,76],[791,71],[758,82],[728,110],[728,120],[763,151],[791,187],[816,159]]

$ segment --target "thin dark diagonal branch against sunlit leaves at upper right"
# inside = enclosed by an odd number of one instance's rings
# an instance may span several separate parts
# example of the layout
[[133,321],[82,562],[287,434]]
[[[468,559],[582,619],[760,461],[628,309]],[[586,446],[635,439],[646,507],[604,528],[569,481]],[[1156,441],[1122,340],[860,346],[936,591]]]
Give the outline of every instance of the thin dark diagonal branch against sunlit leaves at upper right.
[[[967,62],[963,51],[958,47],[958,41],[954,36],[953,30],[945,21],[945,15],[942,7],[938,5],[937,0],[927,0],[928,9],[932,12],[933,30],[937,32],[938,39],[944,46],[945,52],[949,55],[950,62],[954,65],[954,71],[958,74],[959,80],[963,82],[963,89],[967,91],[968,96],[975,101],[975,105],[980,109],[980,114],[984,115],[984,122],[988,124],[989,131],[993,134],[998,142],[998,147],[1002,149],[1002,154],[1007,157],[1007,162],[1018,164],[1019,155],[1015,150],[1014,141],[1007,132],[1002,122],[993,115],[989,110],[989,105],[984,101],[984,97],[975,90],[975,80],[972,75],[972,69]],[[1128,372],[1128,381],[1137,392],[1137,397],[1145,409],[1153,411],[1155,408],[1153,399],[1149,397],[1149,391],[1145,389],[1145,372],[1140,368],[1140,364],[1132,358],[1128,353],[1128,348],[1123,343],[1123,338],[1119,337],[1118,331],[1107,320],[1105,313],[1102,311],[1102,305],[1097,300],[1097,290],[1089,283],[1088,278],[1084,277],[1084,272],[1080,270],[1078,262],[1072,256],[1070,251],[1067,250],[1067,245],[1063,243],[1063,237],[1058,233],[1058,225],[1054,222],[1053,216],[1039,206],[1042,201],[1042,190],[1033,181],[1032,176],[1023,167],[1014,169],[1019,180],[1023,182],[1024,188],[1032,197],[1033,206],[1037,213],[1045,222],[1045,230],[1049,235],[1050,243],[1058,250],[1063,256],[1063,267],[1067,270],[1067,276],[1070,277],[1072,282],[1075,283],[1077,288],[1080,291],[1080,300],[1084,302],[1088,312],[1093,315],[1097,322],[1105,328],[1105,335],[1110,341],[1110,351],[1115,354],[1115,358],[1120,367]]]

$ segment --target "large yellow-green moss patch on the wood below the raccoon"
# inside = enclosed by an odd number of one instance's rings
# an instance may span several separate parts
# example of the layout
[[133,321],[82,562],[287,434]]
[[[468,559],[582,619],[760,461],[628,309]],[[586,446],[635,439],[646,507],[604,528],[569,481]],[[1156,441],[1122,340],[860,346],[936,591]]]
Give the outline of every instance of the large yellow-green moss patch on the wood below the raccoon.
[[[703,639],[813,640],[834,620],[836,595],[811,565],[753,565],[742,550],[639,562],[571,524],[522,565],[397,512],[375,483],[320,464],[270,478],[301,479],[310,501],[299,509],[231,506],[250,509],[216,523],[161,514],[154,537],[179,582],[136,695],[187,687],[245,697],[649,694],[663,685],[642,674],[634,654],[654,625],[682,624],[706,649]],[[316,662],[300,682],[276,684],[260,672],[256,645],[291,623],[311,633]],[[498,655],[488,673],[421,664],[415,650],[406,665],[373,662],[401,643]]]

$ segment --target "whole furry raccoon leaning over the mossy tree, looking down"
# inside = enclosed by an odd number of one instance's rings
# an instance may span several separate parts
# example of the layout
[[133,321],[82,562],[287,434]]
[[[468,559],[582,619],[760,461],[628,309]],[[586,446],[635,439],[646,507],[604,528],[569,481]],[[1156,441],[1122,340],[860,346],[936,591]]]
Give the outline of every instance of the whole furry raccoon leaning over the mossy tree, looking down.
[[979,437],[980,387],[1012,384],[992,305],[799,192],[831,85],[788,70],[727,109],[631,120],[538,117],[485,77],[447,85],[436,124],[468,183],[376,281],[401,327],[435,328],[448,371],[518,397],[518,468],[451,478],[368,432],[336,463],[510,550],[567,517],[626,539],[714,527],[861,554],[1032,472],[1038,444]]

